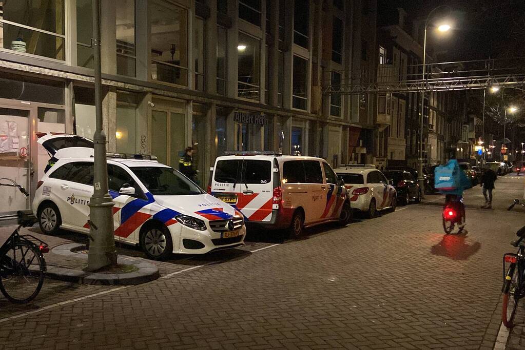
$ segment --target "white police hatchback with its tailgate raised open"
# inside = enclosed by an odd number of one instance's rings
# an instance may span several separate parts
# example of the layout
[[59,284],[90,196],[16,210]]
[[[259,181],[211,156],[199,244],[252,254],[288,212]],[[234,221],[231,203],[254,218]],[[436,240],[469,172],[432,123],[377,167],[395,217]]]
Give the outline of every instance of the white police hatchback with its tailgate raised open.
[[[93,143],[74,135],[38,140],[53,166],[38,182],[33,212],[41,230],[89,232]],[[154,156],[108,154],[115,240],[140,245],[152,259],[244,245],[243,215]]]

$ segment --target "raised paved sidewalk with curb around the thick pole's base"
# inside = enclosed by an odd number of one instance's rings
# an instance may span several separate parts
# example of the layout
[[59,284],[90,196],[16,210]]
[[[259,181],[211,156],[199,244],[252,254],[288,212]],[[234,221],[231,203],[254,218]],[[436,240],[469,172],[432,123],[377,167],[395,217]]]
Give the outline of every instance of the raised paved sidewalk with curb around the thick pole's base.
[[[0,245],[13,233],[16,225],[0,227]],[[104,272],[86,272],[88,237],[76,233],[49,236],[40,233],[37,227],[20,229],[20,235],[30,234],[49,245],[49,253],[44,255],[47,265],[46,277],[61,281],[100,284],[137,285],[159,278],[159,268],[140,257],[119,257],[118,269]],[[73,240],[71,240],[73,239]],[[83,250],[74,253],[73,250]]]

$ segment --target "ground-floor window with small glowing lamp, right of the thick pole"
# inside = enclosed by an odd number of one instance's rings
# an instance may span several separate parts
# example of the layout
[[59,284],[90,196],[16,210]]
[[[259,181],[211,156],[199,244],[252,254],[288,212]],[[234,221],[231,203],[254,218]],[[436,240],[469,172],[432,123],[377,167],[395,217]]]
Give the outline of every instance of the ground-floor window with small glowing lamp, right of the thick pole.
[[117,152],[137,152],[137,96],[117,92]]

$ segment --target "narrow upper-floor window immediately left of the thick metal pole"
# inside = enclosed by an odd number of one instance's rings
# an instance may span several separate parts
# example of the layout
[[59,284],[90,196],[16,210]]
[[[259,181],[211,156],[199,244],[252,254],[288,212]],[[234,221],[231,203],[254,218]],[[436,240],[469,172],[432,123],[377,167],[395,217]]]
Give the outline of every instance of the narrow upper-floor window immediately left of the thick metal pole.
[[92,0],[77,0],[77,65],[93,68]]

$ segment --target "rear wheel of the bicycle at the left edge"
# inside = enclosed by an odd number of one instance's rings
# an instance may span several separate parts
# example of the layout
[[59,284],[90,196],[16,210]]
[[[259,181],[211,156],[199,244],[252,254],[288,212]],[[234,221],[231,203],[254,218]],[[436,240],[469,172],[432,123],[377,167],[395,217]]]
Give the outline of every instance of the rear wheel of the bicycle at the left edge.
[[38,295],[44,283],[45,261],[38,247],[28,242],[18,242],[0,257],[4,277],[0,291],[13,303],[27,303]]

